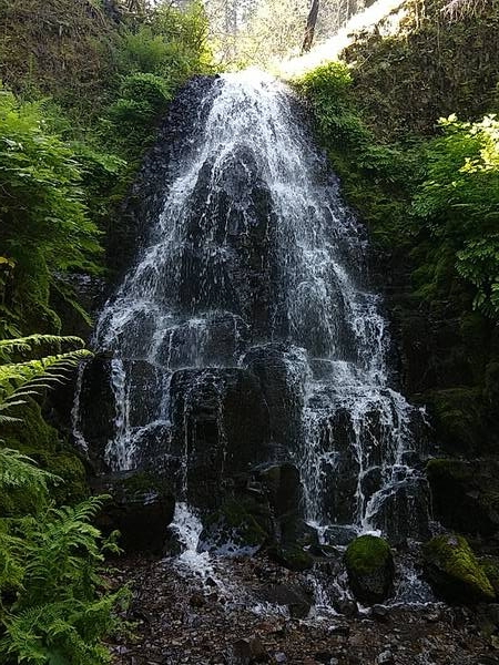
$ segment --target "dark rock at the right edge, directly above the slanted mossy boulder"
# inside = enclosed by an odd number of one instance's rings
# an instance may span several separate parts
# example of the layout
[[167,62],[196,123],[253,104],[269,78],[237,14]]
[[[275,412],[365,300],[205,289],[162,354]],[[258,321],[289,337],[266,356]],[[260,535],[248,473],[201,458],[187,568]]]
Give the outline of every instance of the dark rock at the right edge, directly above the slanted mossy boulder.
[[427,466],[436,518],[449,529],[490,536],[499,531],[499,462],[434,459]]

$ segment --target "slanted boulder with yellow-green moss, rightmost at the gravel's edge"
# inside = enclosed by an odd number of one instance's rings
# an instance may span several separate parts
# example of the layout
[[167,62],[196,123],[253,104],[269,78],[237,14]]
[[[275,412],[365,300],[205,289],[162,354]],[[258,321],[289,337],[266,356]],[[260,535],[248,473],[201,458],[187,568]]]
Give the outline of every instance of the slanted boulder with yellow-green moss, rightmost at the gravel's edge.
[[468,541],[437,535],[422,548],[425,573],[438,595],[452,603],[491,602],[496,594]]

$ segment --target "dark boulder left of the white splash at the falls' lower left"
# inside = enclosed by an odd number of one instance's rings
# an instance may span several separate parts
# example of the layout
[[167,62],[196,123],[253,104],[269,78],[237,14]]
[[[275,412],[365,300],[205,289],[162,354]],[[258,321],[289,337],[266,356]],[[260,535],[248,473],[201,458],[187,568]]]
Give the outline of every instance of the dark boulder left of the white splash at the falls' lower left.
[[175,511],[175,500],[163,479],[123,472],[94,480],[92,489],[111,497],[95,520],[104,534],[120,531],[120,545],[126,553],[162,553]]

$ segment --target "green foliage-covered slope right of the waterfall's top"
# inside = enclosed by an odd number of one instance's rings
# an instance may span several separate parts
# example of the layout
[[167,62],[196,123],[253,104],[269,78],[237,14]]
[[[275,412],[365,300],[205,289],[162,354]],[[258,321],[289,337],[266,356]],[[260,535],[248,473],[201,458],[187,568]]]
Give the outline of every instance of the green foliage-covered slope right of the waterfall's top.
[[[378,243],[389,248],[396,238],[408,252],[428,247],[415,259],[418,295],[446,297],[461,279],[472,306],[498,320],[499,58],[486,38],[499,4],[481,4],[482,13],[451,24],[439,13],[442,2],[425,3],[424,20],[421,2],[413,4],[405,34],[360,35],[347,52],[349,64],[322,65],[296,85],[314,111],[347,200]],[[462,69],[464,42],[469,62]],[[387,80],[390,94],[383,93]],[[470,91],[478,98],[472,104]],[[439,120],[449,104],[456,113]]]

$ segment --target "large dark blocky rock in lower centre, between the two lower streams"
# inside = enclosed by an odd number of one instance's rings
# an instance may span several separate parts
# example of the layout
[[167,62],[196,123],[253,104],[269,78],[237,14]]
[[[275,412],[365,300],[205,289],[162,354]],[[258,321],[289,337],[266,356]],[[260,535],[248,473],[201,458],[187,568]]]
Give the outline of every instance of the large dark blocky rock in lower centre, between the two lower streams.
[[171,382],[172,451],[187,454],[187,499],[216,509],[231,479],[272,457],[268,408],[245,369],[183,369]]

